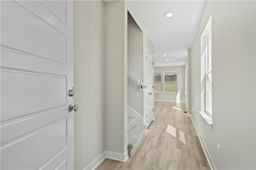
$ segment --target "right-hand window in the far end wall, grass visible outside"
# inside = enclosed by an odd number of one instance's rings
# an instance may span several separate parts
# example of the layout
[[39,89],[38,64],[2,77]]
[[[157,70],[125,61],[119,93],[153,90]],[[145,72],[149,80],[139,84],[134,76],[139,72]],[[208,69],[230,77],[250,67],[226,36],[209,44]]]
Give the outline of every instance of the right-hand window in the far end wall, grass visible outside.
[[164,72],[164,93],[177,93],[177,71]]

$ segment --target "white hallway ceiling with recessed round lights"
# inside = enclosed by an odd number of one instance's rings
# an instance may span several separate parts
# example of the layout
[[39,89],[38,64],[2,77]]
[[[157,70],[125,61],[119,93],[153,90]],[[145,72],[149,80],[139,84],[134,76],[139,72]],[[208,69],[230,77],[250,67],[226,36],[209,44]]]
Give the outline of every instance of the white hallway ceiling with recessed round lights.
[[[194,41],[206,1],[128,0],[127,2],[130,14],[155,47],[155,66],[185,65],[188,49]],[[173,16],[166,18],[164,16],[166,12],[171,12]]]

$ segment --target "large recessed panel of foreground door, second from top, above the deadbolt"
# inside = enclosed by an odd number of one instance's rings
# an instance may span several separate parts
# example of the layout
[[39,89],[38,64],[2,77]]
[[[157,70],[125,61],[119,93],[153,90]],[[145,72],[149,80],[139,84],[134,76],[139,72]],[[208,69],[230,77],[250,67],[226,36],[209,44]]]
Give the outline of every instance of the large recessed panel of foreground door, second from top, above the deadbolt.
[[1,8],[1,45],[66,64],[64,34],[20,3],[2,4],[5,8]]

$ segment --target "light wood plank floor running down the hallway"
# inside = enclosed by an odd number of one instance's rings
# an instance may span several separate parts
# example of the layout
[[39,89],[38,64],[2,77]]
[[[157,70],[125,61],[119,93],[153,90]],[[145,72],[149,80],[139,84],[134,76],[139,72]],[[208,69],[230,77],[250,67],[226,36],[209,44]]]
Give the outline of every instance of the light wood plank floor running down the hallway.
[[[105,159],[96,170],[210,170],[186,110],[184,103],[155,102],[155,120],[132,157],[126,162]],[[168,125],[176,128],[176,137],[166,132]]]

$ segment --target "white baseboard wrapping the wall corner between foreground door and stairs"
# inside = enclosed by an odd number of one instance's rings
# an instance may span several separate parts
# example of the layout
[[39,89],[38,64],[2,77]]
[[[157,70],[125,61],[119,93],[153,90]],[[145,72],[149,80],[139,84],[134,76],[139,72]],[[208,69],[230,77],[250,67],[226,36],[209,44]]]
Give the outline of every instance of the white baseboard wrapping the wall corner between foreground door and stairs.
[[112,160],[117,160],[120,162],[126,162],[126,160],[129,158],[128,150],[124,154],[105,150],[104,152],[102,152],[102,154],[100,154],[97,158],[95,158],[88,166],[86,166],[86,168],[84,168],[84,170],[94,170],[106,158],[112,159]]

